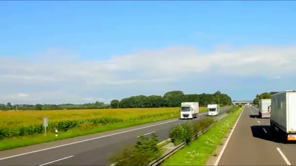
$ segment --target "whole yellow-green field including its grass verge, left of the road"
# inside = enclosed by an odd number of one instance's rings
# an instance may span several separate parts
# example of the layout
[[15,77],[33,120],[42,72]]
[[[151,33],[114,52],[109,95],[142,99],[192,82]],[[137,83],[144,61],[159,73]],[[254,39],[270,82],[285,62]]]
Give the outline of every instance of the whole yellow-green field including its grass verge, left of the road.
[[[200,112],[206,112],[200,107]],[[173,113],[173,116],[171,115]],[[44,136],[42,118],[49,117]],[[0,111],[0,150],[180,117],[179,108]],[[55,129],[59,130],[56,138]]]

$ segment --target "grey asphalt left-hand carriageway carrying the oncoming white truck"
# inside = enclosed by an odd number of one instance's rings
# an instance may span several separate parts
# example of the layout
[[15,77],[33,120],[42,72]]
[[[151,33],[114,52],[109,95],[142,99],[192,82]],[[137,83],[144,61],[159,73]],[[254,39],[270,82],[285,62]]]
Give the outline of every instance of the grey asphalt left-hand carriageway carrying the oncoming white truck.
[[[230,108],[221,109],[221,114]],[[206,117],[201,113],[198,119]],[[109,158],[126,145],[134,145],[141,134],[156,132],[160,141],[170,129],[186,120],[169,119],[125,129],[95,133],[54,142],[0,151],[1,166],[99,166],[111,165]]]

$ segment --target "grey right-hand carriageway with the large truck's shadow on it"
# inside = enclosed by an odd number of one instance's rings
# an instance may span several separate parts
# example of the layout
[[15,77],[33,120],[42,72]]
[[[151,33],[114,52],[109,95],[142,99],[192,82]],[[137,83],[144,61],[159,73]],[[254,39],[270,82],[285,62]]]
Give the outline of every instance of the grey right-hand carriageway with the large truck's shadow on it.
[[219,166],[296,165],[296,144],[284,144],[271,134],[270,119],[246,106],[222,154]]

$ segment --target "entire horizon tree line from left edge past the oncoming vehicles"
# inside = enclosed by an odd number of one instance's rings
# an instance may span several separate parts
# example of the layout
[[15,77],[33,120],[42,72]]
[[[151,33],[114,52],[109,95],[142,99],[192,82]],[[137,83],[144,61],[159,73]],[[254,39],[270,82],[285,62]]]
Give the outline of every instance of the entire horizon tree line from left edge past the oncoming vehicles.
[[132,96],[122,100],[112,100],[110,104],[96,101],[85,104],[15,104],[10,102],[0,104],[0,110],[61,110],[61,109],[94,109],[94,108],[156,108],[156,107],[179,107],[181,102],[199,102],[200,106],[219,103],[220,105],[231,105],[231,98],[217,91],[214,94],[184,94],[182,91],[170,91],[163,97]]

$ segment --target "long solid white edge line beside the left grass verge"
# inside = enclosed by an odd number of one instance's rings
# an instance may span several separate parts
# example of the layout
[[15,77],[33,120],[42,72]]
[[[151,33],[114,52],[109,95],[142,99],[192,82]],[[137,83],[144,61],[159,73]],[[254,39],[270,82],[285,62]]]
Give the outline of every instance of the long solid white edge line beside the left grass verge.
[[132,130],[129,130],[129,131],[124,131],[124,132],[119,132],[119,133],[113,133],[113,134],[99,136],[99,137],[95,137],[95,138],[91,138],[91,139],[86,139],[86,140],[82,140],[82,141],[77,141],[77,142],[73,142],[73,143],[69,143],[69,144],[59,145],[59,146],[56,146],[56,147],[51,147],[51,148],[46,148],[46,149],[40,149],[40,150],[30,151],[30,152],[27,152],[27,153],[22,153],[22,154],[17,154],[17,155],[14,155],[14,156],[0,158],[0,160],[9,159],[9,158],[13,158],[13,157],[18,157],[18,156],[22,156],[22,155],[26,155],[26,154],[30,154],[30,153],[39,152],[39,151],[44,151],[44,150],[49,150],[49,149],[55,149],[55,148],[64,147],[64,146],[68,146],[68,145],[78,144],[78,143],[81,143],[81,142],[91,141],[91,140],[94,140],[94,139],[104,138],[104,137],[107,137],[107,136],[117,135],[117,134],[121,134],[121,133],[132,132],[132,131],[136,131],[136,130],[140,130],[140,129],[145,129],[145,128],[148,128],[148,127],[153,127],[153,126],[157,126],[157,125],[162,125],[162,124],[174,122],[174,121],[177,121],[177,120],[179,120],[179,119],[175,119],[175,120],[171,120],[171,121],[168,121],[168,122],[159,123],[159,124],[155,124],[155,125],[151,125],[151,126],[141,127],[141,128],[138,128],[138,129],[132,129]]

